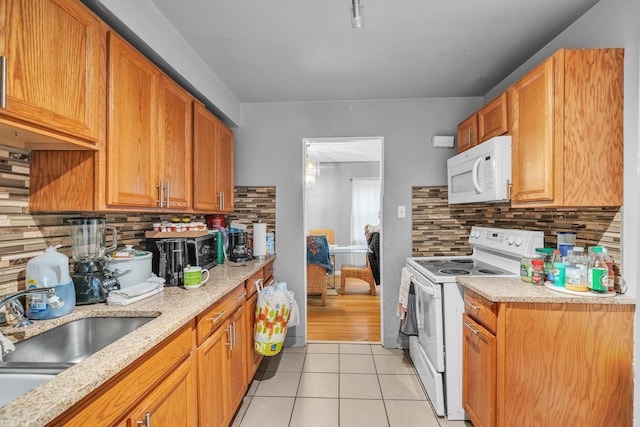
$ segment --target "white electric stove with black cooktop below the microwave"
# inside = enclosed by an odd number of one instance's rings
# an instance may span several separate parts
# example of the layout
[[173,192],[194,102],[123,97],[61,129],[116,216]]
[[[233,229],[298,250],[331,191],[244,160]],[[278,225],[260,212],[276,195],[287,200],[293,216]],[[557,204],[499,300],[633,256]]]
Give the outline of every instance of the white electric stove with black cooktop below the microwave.
[[464,420],[462,409],[463,288],[459,276],[519,277],[520,258],[544,246],[540,231],[472,227],[469,256],[411,257],[418,336],[409,354],[439,416]]

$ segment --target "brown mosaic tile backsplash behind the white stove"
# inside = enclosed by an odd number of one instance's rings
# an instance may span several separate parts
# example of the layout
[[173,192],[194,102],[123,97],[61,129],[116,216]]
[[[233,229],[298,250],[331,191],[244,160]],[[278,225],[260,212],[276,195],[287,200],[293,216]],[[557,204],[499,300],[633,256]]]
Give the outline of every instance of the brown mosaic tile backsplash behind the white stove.
[[556,247],[558,231],[577,233],[578,246],[602,245],[614,260],[620,281],[622,208],[512,208],[508,203],[449,205],[447,187],[413,187],[412,256],[468,255],[473,225],[539,230],[546,247]]

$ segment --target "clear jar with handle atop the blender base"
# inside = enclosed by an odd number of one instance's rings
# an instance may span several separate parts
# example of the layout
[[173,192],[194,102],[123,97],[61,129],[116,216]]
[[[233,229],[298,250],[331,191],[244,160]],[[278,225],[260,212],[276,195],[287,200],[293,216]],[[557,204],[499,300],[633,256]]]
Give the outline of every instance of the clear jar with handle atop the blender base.
[[[106,225],[104,218],[73,218],[71,224],[71,252],[76,262],[102,261],[106,252],[118,246],[116,228]],[[105,247],[106,231],[111,230],[113,245]]]

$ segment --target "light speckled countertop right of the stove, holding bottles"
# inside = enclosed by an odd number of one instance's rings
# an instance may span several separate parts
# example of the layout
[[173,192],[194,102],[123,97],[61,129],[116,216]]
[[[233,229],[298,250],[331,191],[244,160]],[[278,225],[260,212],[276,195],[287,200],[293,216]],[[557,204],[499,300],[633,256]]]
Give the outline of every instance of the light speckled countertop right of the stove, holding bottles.
[[523,282],[520,277],[456,277],[457,281],[478,295],[493,302],[531,302],[565,304],[626,304],[635,305],[635,297],[617,294],[598,296],[591,292],[580,295],[561,293],[545,286]]

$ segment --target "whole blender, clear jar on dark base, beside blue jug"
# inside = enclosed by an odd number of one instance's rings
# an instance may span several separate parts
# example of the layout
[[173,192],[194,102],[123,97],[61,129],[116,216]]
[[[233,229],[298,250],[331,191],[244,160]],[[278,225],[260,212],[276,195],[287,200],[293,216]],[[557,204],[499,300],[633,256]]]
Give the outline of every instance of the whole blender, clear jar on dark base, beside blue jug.
[[[116,228],[106,225],[104,218],[72,218],[71,253],[75,267],[71,279],[76,290],[76,304],[106,302],[109,292],[120,289],[118,279],[106,268],[105,253],[116,249]],[[105,246],[105,234],[111,230],[113,245]]]

